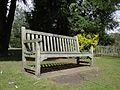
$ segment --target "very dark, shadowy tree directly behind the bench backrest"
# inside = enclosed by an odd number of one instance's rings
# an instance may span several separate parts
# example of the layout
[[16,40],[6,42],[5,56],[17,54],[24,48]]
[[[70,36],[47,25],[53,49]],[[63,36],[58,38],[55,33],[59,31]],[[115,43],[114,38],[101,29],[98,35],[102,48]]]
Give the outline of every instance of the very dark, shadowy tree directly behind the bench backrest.
[[27,14],[33,30],[69,35],[69,5],[76,0],[34,0],[34,10]]

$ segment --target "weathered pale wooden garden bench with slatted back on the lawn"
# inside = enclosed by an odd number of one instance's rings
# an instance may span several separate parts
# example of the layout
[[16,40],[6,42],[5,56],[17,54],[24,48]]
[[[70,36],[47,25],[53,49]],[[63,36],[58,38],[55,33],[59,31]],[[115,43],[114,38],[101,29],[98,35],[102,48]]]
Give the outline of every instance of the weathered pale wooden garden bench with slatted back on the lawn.
[[68,37],[21,28],[22,31],[22,61],[23,68],[27,68],[26,58],[35,58],[35,75],[41,74],[41,62],[47,58],[56,57],[79,57],[93,60],[93,48],[90,52],[82,53],[79,50],[77,37]]

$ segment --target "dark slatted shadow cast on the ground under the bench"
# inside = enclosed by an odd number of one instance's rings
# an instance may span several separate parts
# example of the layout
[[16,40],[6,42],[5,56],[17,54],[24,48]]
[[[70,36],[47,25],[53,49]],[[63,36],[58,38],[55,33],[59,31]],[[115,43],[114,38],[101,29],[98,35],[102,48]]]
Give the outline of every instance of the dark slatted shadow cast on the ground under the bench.
[[[53,72],[53,71],[59,71],[59,70],[66,70],[66,69],[72,69],[77,67],[84,67],[84,66],[90,66],[89,64],[76,64],[76,63],[49,63],[49,64],[42,64],[41,65],[41,74],[47,73],[47,72]],[[32,67],[34,67],[32,65]],[[26,72],[34,74],[34,70],[25,69]]]

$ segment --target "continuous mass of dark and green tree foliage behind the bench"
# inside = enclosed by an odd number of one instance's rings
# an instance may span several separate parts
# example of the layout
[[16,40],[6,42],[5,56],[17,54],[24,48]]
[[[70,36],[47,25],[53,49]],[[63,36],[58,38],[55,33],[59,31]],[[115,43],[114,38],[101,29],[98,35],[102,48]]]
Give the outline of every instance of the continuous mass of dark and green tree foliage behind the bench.
[[115,28],[113,13],[119,0],[34,0],[34,10],[27,13],[33,30],[62,35],[99,33],[99,44],[109,45],[114,40],[105,30]]

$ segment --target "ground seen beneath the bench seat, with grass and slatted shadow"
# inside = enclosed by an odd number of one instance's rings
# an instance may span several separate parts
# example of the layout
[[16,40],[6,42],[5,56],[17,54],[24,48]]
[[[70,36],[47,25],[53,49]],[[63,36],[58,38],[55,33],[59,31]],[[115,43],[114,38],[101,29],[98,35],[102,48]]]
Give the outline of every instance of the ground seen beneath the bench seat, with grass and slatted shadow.
[[[35,74],[35,65],[34,62],[28,62],[28,66],[30,69],[25,69],[27,72],[31,74]],[[60,70],[68,70],[73,68],[79,68],[79,67],[90,67],[90,64],[88,61],[82,61],[80,64],[76,64],[75,59],[56,59],[56,60],[47,60],[43,61],[41,64],[41,74],[48,73],[48,72],[54,72],[54,71],[60,71]]]

